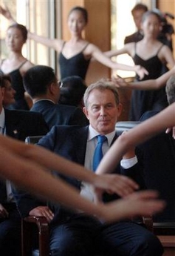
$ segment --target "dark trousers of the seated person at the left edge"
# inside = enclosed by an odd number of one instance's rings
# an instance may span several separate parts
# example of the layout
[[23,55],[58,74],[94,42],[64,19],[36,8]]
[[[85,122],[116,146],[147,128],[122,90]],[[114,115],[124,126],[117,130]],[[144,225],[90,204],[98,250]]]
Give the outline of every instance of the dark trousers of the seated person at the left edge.
[[0,255],[21,256],[21,217],[15,203],[3,206],[9,217],[0,219]]

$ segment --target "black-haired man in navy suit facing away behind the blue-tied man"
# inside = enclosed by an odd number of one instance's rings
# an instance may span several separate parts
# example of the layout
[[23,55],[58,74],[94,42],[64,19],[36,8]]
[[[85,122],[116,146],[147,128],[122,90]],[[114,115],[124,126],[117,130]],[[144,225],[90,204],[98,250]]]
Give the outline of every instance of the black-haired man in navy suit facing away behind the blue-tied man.
[[52,68],[36,65],[27,70],[24,87],[33,101],[30,111],[43,114],[49,128],[53,125],[87,125],[80,108],[58,104],[60,88]]

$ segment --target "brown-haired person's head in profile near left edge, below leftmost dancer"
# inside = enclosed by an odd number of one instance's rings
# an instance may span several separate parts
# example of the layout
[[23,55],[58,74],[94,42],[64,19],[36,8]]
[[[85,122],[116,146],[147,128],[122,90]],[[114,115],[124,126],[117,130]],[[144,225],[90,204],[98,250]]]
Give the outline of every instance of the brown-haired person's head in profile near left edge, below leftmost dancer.
[[3,106],[7,108],[10,104],[16,102],[15,94],[16,91],[13,89],[11,85],[11,78],[9,75],[2,75],[2,87],[4,87],[4,99]]

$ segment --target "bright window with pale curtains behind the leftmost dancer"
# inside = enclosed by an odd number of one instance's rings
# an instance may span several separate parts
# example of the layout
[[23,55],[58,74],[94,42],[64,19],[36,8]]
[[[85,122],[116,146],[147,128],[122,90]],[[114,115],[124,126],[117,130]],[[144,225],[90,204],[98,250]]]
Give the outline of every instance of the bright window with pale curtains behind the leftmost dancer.
[[[60,4],[60,1],[57,2]],[[53,0],[1,0],[3,6],[7,6],[13,17],[18,23],[24,24],[31,32],[38,35],[55,38],[57,30],[55,22],[55,1]],[[10,22],[0,16],[0,39],[1,39],[1,59],[7,56],[7,47],[5,45],[5,33]],[[23,49],[24,56],[31,62],[41,65],[49,65],[56,68],[55,51],[39,45],[32,40],[27,40],[27,44]]]

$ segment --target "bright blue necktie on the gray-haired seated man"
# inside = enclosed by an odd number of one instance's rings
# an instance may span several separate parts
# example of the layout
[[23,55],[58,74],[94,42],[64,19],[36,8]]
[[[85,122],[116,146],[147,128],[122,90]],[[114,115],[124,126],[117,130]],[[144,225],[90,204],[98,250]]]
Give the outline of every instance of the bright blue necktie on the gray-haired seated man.
[[97,169],[97,166],[99,165],[100,160],[102,160],[103,158],[102,146],[103,146],[103,142],[105,142],[106,140],[107,138],[104,135],[97,136],[97,146],[95,148],[93,164],[92,164],[93,171]]

